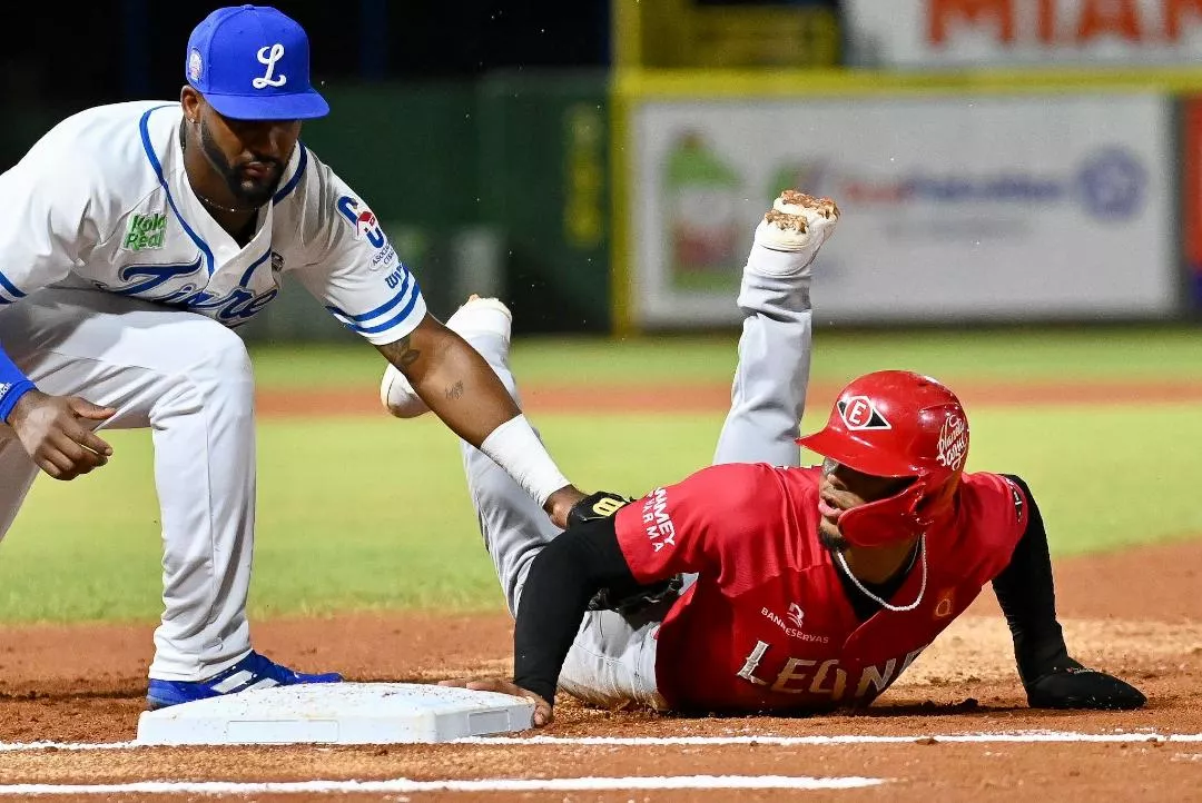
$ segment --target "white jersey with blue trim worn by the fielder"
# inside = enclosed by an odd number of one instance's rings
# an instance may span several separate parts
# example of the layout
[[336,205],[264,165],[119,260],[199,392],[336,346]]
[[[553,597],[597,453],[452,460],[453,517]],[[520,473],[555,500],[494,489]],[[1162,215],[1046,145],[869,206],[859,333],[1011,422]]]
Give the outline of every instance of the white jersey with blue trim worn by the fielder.
[[75,114],[0,174],[0,307],[47,286],[99,288],[234,328],[291,272],[375,344],[426,314],[417,281],[375,215],[303,144],[245,247],[208,214],[184,172],[178,102]]

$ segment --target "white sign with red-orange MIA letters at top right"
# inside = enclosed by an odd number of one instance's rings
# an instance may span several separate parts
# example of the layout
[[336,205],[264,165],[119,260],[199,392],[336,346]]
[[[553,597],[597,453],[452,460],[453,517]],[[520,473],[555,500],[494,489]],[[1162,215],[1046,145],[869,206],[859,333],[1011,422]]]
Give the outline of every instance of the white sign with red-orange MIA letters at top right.
[[847,0],[850,60],[883,67],[1192,66],[1200,0]]

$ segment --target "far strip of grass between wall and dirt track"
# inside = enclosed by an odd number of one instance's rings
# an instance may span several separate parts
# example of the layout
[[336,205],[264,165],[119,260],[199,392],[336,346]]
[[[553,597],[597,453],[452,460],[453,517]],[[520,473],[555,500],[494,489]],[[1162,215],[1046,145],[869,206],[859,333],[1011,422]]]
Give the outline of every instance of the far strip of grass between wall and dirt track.
[[[727,382],[737,334],[597,340],[526,337],[512,365],[526,383]],[[383,358],[363,346],[255,349],[260,383],[275,388],[370,385]],[[908,368],[951,382],[976,379],[1202,379],[1202,329],[1114,326],[963,331],[845,332],[819,329],[813,376],[844,382],[879,368]]]

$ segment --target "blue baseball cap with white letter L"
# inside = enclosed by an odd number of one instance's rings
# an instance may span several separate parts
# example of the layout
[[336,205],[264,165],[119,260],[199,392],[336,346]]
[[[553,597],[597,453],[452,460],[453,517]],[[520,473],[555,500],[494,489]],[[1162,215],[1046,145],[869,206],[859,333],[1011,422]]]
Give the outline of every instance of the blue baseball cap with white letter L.
[[308,120],[329,104],[309,84],[309,36],[269,6],[218,8],[188,38],[188,83],[234,120]]

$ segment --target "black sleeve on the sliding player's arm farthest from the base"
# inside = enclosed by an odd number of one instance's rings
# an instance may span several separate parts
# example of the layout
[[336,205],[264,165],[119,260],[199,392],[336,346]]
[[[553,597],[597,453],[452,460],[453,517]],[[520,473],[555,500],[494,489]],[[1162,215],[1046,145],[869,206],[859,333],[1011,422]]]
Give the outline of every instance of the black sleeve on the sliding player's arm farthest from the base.
[[1027,532],[1014,547],[1010,565],[993,581],[993,588],[1014,640],[1018,673],[1024,682],[1030,682],[1063,669],[1069,661],[1069,651],[1055,618],[1052,558],[1043,517],[1025,483],[1017,477],[1010,479],[1027,492]]

